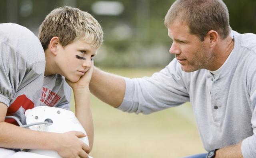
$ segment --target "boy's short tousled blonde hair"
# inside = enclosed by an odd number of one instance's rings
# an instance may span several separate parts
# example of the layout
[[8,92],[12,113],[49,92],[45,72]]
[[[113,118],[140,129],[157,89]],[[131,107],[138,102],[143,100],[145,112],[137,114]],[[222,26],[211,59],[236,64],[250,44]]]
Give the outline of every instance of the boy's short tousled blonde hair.
[[40,25],[38,38],[44,50],[55,36],[59,37],[63,47],[84,40],[98,48],[103,42],[103,31],[98,21],[88,12],[69,6],[52,10]]

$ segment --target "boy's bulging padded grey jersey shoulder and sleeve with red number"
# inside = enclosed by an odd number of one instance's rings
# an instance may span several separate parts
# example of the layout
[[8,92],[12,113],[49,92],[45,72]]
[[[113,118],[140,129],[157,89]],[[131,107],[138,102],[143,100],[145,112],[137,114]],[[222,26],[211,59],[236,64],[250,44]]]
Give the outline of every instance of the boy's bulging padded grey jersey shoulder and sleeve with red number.
[[18,24],[1,23],[0,102],[8,107],[6,115],[26,123],[24,111],[40,105],[44,69],[44,50],[34,33]]

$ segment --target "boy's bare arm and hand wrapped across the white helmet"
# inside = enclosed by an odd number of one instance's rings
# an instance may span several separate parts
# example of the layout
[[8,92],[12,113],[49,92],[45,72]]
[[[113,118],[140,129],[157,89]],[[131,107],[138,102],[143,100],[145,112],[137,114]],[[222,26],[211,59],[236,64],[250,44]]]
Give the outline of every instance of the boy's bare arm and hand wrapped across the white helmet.
[[[4,122],[7,106],[0,103],[0,147],[55,150],[64,158],[80,155],[87,158],[82,148],[88,148],[81,143],[78,137],[85,137],[82,132],[50,133],[33,131]],[[54,142],[54,143],[53,143]]]

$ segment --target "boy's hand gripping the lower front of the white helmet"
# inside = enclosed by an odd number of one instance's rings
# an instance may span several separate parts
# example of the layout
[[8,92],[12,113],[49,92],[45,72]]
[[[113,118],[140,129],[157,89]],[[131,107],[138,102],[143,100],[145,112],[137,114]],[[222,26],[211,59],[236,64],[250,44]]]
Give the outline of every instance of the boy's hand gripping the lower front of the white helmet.
[[78,131],[60,134],[56,151],[62,158],[88,158],[90,147],[79,139],[82,137],[86,135]]

